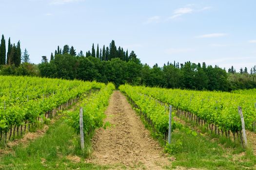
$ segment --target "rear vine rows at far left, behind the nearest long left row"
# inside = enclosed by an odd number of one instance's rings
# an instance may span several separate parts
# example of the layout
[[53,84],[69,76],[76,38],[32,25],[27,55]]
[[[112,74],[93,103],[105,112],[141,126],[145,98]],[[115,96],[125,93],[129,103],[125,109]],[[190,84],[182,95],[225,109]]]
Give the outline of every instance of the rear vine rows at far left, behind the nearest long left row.
[[63,81],[60,79],[0,76],[1,105],[20,104],[27,100],[38,100],[43,96],[70,91],[80,81]]

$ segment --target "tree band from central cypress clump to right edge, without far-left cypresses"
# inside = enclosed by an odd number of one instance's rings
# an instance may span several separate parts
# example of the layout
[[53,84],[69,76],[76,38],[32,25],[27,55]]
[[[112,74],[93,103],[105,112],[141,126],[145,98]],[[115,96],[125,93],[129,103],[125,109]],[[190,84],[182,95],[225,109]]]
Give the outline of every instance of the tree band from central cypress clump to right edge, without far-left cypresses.
[[[50,62],[45,58],[46,56],[42,57],[39,72],[43,77],[113,82],[117,86],[129,83],[131,85],[220,91],[256,88],[254,81],[256,74],[249,75],[243,72],[237,77],[234,75],[238,73],[232,74],[217,66],[206,66],[205,63],[195,64],[190,61],[184,64],[175,61],[173,64],[168,62],[163,67],[155,64],[151,68],[147,64],[142,64],[134,51],[128,57],[125,57],[128,51],[123,52],[123,57],[118,55],[120,52],[113,47],[113,44],[115,44],[114,40],[107,49],[113,49],[114,52],[107,52],[107,55],[98,52],[98,45],[95,53],[94,44],[92,53],[86,52],[87,56],[84,56],[82,51],[76,55],[73,46],[69,49],[69,46],[65,45],[62,51],[58,47],[55,55],[51,54]],[[120,47],[118,49],[123,51]]]

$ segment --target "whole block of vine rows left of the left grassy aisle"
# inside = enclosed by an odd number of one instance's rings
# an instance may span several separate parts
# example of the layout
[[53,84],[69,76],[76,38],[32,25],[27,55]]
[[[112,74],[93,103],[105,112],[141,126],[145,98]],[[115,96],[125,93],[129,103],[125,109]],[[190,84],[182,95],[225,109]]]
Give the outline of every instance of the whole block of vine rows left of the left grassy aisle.
[[6,143],[16,132],[22,136],[31,126],[103,86],[96,82],[0,76],[0,140],[4,138]]

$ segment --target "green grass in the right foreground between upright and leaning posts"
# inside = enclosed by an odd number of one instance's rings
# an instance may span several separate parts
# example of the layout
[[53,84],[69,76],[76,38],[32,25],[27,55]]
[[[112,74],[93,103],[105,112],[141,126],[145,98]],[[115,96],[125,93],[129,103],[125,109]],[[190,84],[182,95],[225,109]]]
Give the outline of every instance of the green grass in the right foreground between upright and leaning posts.
[[209,136],[187,135],[182,131],[173,133],[172,143],[181,146],[172,154],[176,157],[173,168],[206,168],[208,170],[253,170],[256,157],[252,150],[243,152],[241,147],[228,148]]

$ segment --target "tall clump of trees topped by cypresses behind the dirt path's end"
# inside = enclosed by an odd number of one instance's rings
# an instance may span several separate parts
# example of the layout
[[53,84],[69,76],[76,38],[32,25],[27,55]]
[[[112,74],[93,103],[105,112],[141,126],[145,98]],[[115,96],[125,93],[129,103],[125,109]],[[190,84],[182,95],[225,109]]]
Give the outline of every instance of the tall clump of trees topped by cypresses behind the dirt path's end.
[[94,44],[92,50],[78,54],[73,46],[65,45],[51,53],[50,61],[42,56],[39,72],[43,77],[79,79],[86,81],[113,82],[117,86],[124,83],[138,84],[139,70],[142,67],[134,51],[130,54],[112,40],[109,47],[102,50]]

